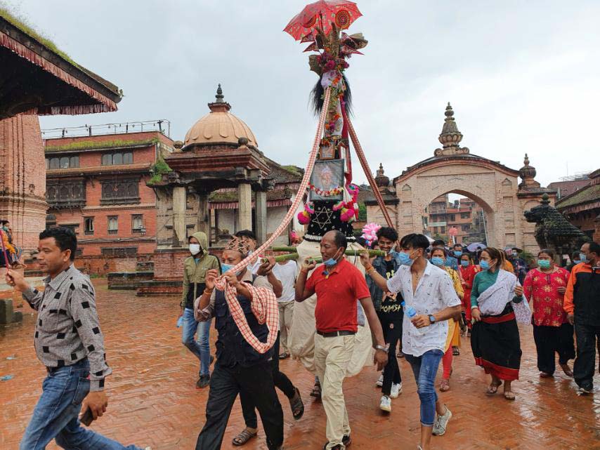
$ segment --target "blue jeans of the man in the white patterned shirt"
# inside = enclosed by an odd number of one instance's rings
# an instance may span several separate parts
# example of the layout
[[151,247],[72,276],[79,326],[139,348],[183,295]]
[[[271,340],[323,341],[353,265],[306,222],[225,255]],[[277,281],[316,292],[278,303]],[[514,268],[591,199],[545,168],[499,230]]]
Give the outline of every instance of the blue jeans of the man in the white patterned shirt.
[[423,355],[415,357],[405,355],[405,359],[417,381],[417,392],[421,400],[421,425],[432,427],[436,420],[436,375],[444,353],[442,350],[428,350]]

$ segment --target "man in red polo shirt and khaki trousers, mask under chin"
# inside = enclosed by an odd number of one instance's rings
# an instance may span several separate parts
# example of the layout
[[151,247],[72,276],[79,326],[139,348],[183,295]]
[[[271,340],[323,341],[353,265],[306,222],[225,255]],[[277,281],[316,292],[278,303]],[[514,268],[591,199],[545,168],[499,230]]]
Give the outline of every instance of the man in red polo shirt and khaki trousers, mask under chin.
[[342,383],[346,366],[354,349],[358,331],[356,300],[363,305],[375,345],[374,363],[383,369],[388,360],[384,333],[365,282],[364,275],[344,258],[348,243],[344,233],[333,230],[321,239],[323,265],[306,281],[308,272],[316,267],[313,260],[304,260],[296,280],[296,301],[317,294],[315,321],[315,367],[322,388],[322,402],[327,414],[327,439],[324,449],[344,450],[351,442],[350,423],[344,402]]

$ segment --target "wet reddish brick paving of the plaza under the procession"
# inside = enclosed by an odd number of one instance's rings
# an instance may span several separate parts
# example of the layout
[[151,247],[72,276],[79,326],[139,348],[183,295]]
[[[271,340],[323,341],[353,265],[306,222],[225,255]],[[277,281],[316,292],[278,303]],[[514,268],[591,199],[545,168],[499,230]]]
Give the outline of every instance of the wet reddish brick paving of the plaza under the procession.
[[[193,449],[204,423],[208,389],[197,390],[197,361],[181,345],[176,329],[178,298],[136,298],[127,291],[107,291],[103,279],[93,280],[98,293],[100,322],[106,339],[107,360],[113,374],[107,378],[110,395],[107,414],[93,429],[123,444],[151,445],[153,450]],[[0,329],[0,449],[18,449],[18,443],[41,392],[46,371],[33,348],[34,315],[25,305],[22,324]],[[211,330],[214,340],[214,329]],[[521,329],[523,362],[521,380],[514,383],[516,402],[483,392],[487,378],[471,357],[469,341],[455,357],[452,389],[441,394],[453,413],[448,432],[433,437],[437,450],[600,449],[600,394],[577,397],[575,383],[562,373],[540,379],[535,367],[535,348],[530,328]],[[15,359],[6,359],[14,356]],[[377,374],[364,369],[346,380],[344,391],[353,428],[352,449],[416,449],[419,402],[415,381],[402,360],[404,392],[393,400],[393,411],[379,411]],[[300,421],[294,422],[287,399],[280,395],[285,413],[286,449],[321,449],[325,442],[325,414],[320,402],[308,396],[312,376],[298,362],[282,362],[282,370],[299,385],[306,404]],[[559,370],[560,371],[560,370]],[[600,377],[595,378],[596,391]],[[223,449],[230,444],[243,421],[236,402]],[[55,444],[48,449],[57,449]],[[266,449],[264,433],[244,446]]]

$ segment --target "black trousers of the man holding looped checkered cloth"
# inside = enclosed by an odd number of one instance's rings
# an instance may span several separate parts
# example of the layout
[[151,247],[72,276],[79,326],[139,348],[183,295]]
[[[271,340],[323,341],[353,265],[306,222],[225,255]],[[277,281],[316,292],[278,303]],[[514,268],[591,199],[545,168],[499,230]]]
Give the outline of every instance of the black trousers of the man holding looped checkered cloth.
[[283,411],[273,385],[268,362],[252,367],[223,367],[217,362],[211,375],[207,421],[198,436],[196,450],[219,450],[238,393],[247,395],[261,414],[269,450],[283,443]]

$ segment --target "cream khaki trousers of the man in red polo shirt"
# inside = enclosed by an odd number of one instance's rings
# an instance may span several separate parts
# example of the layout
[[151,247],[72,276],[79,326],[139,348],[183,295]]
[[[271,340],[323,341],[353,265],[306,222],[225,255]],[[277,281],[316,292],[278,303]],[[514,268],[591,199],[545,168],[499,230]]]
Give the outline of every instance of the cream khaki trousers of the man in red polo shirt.
[[321,383],[323,408],[327,414],[327,449],[338,444],[344,449],[341,439],[350,435],[342,384],[354,350],[354,337],[351,335],[324,338],[315,333],[315,367]]

